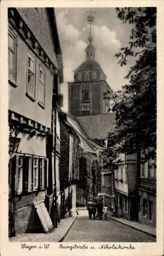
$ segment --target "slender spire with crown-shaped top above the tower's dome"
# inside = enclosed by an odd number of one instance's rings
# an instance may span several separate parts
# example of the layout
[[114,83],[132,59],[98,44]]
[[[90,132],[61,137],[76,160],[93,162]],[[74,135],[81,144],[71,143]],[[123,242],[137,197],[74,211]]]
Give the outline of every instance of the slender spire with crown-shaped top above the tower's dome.
[[94,15],[96,12],[92,12],[90,9],[90,12],[87,12],[87,20],[90,23],[90,36],[88,37],[89,40],[89,46],[86,48],[86,59],[94,59],[95,58],[95,51],[96,49],[93,47],[92,41],[93,41],[93,37],[92,37],[92,33],[91,33],[91,29],[92,29],[92,22],[94,20]]

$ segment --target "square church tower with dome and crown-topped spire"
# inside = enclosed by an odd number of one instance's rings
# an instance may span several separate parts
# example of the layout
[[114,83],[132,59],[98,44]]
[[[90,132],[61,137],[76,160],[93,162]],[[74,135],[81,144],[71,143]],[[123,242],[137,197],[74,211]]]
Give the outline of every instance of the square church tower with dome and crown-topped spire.
[[73,116],[105,114],[110,108],[110,101],[103,99],[105,92],[111,92],[99,63],[95,60],[96,49],[93,44],[91,23],[94,12],[89,12],[89,44],[86,48],[86,60],[74,71],[74,81],[68,83],[69,113]]

